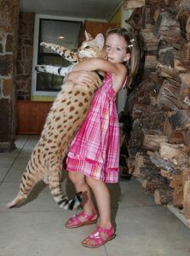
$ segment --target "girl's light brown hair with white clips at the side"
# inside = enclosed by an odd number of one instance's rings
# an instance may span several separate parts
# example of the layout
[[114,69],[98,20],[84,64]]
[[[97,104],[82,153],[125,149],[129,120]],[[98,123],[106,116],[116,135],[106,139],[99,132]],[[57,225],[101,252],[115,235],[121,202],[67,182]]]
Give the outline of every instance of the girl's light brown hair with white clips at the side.
[[130,86],[132,79],[138,71],[140,62],[140,49],[135,36],[132,36],[125,28],[109,28],[106,32],[106,38],[111,34],[117,34],[124,38],[127,44],[127,53],[130,53],[130,61],[126,62],[126,66],[129,69],[127,85]]

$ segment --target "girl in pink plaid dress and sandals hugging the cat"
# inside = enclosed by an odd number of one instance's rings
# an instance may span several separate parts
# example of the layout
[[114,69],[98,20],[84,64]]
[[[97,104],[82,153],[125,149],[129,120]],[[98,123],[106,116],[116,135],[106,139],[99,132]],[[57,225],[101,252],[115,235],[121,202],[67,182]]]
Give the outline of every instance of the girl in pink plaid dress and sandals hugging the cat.
[[[115,96],[124,87],[130,57],[138,56],[136,42],[124,28],[107,31],[105,48],[107,60],[88,59],[79,63],[67,79],[83,84],[89,81],[88,73],[81,71],[103,70],[106,78],[91,102],[83,125],[74,137],[66,160],[69,178],[76,190],[83,191],[83,212],[66,222],[72,229],[87,224],[99,224],[83,241],[83,246],[100,247],[115,236],[111,223],[111,202],[106,183],[118,183],[119,128]],[[138,60],[138,58],[136,59]],[[136,61],[131,61],[131,73],[135,73]],[[130,76],[131,76],[130,73]],[[92,201],[95,195],[98,211]]]

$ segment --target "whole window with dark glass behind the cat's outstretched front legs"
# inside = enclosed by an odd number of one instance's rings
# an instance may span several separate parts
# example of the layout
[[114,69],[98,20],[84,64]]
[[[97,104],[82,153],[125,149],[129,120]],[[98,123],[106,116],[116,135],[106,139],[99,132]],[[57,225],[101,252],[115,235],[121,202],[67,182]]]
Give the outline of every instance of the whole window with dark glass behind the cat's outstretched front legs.
[[55,96],[60,90],[62,77],[49,73],[36,73],[35,65],[66,67],[71,63],[53,50],[44,49],[41,42],[63,45],[68,49],[78,49],[82,20],[61,20],[57,17],[37,15],[35,20],[34,56],[32,73],[32,96]]

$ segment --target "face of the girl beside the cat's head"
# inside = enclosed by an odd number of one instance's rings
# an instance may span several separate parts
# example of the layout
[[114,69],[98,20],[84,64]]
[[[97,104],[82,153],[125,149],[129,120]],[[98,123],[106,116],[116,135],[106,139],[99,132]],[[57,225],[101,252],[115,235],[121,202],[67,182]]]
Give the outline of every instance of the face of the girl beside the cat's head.
[[105,48],[107,51],[107,60],[113,63],[123,63],[130,59],[130,53],[127,53],[127,43],[124,38],[118,34],[110,34],[106,39]]

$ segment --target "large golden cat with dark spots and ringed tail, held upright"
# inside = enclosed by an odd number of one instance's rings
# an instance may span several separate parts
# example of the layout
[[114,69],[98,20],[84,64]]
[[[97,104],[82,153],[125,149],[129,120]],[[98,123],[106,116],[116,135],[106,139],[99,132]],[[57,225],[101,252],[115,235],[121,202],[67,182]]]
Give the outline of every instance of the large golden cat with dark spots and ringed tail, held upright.
[[[79,58],[105,57],[102,49],[104,39],[101,34],[94,40],[86,40],[78,51]],[[45,47],[55,49],[60,53],[59,46],[55,44],[43,44]],[[76,62],[76,54],[71,55],[70,51],[61,47],[61,55],[67,60]],[[78,62],[78,60],[77,60]],[[38,71],[46,72],[45,66],[39,66]],[[62,72],[70,71],[70,67],[62,67]],[[47,71],[49,72],[49,71]],[[94,83],[85,86],[66,82],[62,85],[58,96],[49,111],[43,127],[41,137],[32,151],[31,159],[26,166],[20,183],[19,194],[7,207],[16,207],[26,200],[33,186],[43,179],[48,180],[49,189],[55,201],[64,209],[78,207],[81,202],[81,195],[78,194],[73,200],[69,200],[63,194],[60,184],[62,161],[66,156],[69,144],[78,128],[83,122],[89,109],[92,96],[95,90],[101,86],[102,80],[97,73],[91,73]]]

